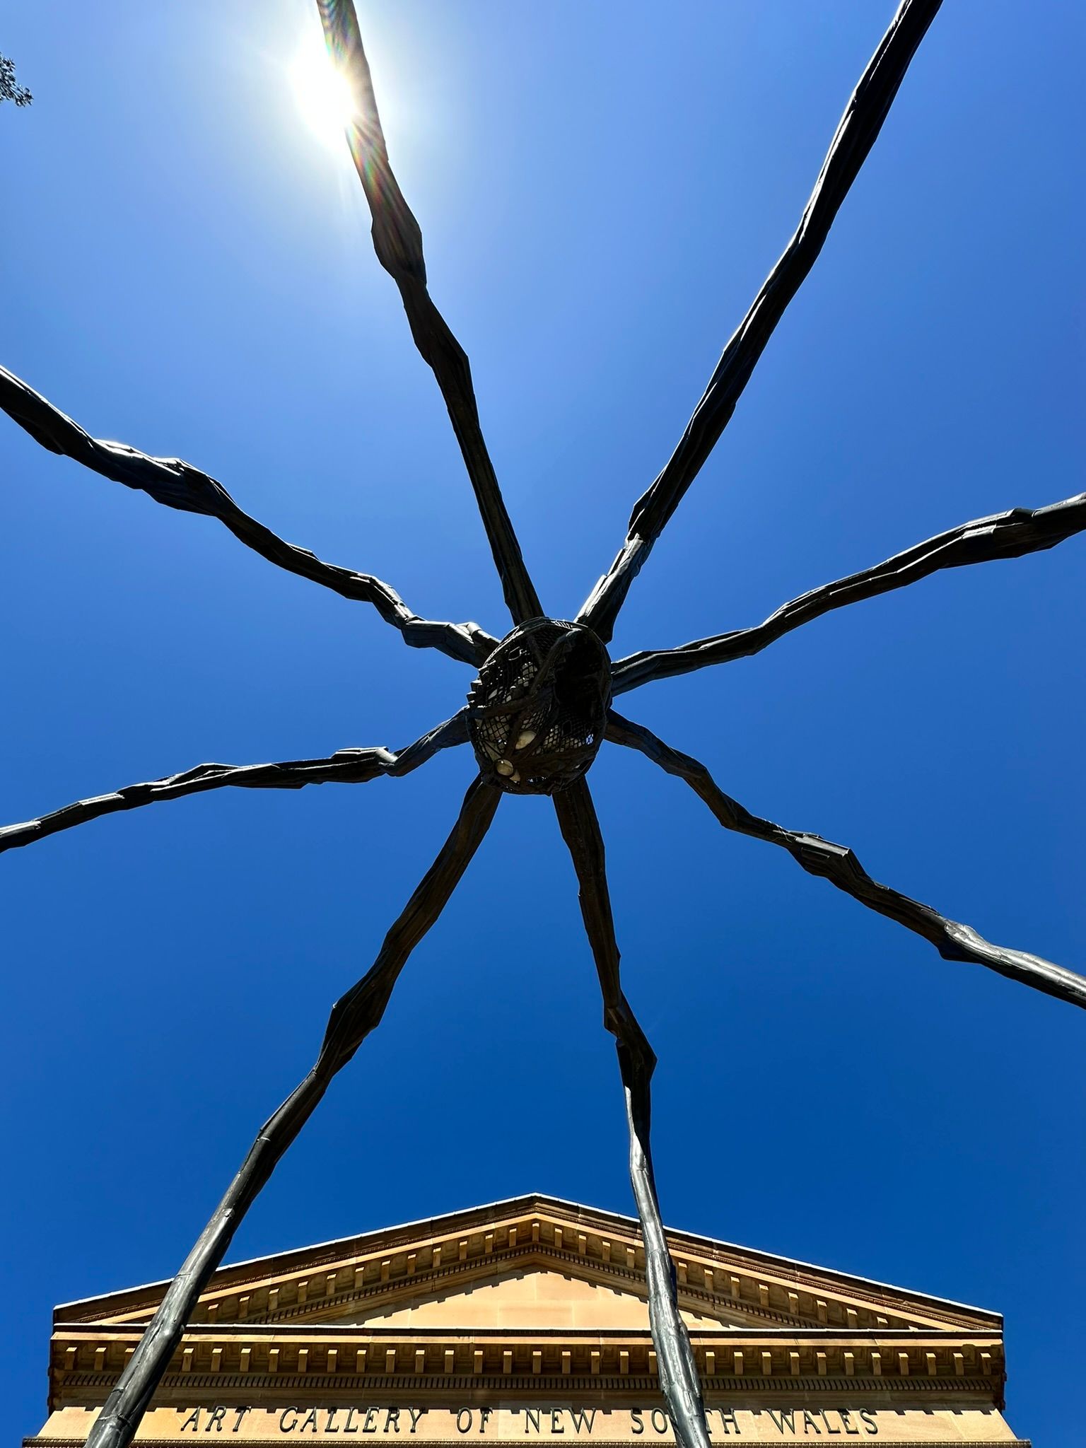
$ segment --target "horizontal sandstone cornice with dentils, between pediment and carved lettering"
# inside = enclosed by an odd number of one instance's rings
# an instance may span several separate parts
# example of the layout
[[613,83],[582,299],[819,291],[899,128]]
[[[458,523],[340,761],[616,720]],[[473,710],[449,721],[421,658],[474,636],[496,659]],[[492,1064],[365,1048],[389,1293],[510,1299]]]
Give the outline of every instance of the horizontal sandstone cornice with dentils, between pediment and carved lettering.
[[[51,1352],[52,1397],[104,1396],[139,1341],[138,1326],[62,1325]],[[995,1334],[851,1332],[799,1328],[691,1334],[708,1394],[770,1386],[1002,1402],[1003,1345]],[[647,1331],[439,1331],[369,1326],[195,1323],[164,1392],[252,1389],[330,1393],[460,1390],[657,1392]]]

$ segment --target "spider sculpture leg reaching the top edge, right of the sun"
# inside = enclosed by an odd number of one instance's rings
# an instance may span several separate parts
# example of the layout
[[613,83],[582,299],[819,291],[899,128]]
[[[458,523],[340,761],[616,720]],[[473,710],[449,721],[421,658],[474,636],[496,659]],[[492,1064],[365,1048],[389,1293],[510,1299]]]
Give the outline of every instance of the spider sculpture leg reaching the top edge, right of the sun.
[[611,637],[630,585],[720,440],[773,329],[814,266],[940,3],[902,0],[849,100],[792,240],[724,348],[678,447],[634,504],[626,543],[578,614],[578,623],[594,628],[604,643]]

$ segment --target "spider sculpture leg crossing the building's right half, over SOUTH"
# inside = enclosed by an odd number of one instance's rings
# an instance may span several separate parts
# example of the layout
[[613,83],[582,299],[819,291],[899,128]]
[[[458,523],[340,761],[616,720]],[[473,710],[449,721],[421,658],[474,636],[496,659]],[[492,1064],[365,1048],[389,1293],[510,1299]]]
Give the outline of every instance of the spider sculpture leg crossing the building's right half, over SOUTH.
[[644,1237],[644,1274],[649,1283],[649,1323],[652,1326],[660,1387],[675,1423],[675,1438],[682,1448],[708,1448],[705,1406],[698,1368],[694,1363],[686,1326],[679,1316],[675,1292],[675,1267],[660,1222],[656,1197],[649,1128],[652,1121],[650,1082],[656,1056],[637,1024],[630,1002],[623,995],[618,946],[607,889],[604,840],[588,783],[578,783],[553,796],[557,822],[576,870],[581,915],[592,947],[599,990],[604,998],[604,1025],[618,1048],[618,1069],[626,1093],[626,1119],[630,1129],[630,1182]]

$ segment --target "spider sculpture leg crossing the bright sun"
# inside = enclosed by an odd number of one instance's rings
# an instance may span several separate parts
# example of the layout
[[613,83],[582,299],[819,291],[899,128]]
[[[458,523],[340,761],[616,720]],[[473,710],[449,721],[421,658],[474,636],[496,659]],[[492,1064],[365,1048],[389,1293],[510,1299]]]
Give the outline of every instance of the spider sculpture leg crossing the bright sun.
[[353,0],[317,0],[317,9],[329,54],[353,94],[356,114],[348,142],[374,217],[376,259],[400,288],[414,345],[432,368],[449,408],[513,621],[537,618],[543,607],[529,578],[487,452],[468,355],[427,291],[423,233],[388,162]]

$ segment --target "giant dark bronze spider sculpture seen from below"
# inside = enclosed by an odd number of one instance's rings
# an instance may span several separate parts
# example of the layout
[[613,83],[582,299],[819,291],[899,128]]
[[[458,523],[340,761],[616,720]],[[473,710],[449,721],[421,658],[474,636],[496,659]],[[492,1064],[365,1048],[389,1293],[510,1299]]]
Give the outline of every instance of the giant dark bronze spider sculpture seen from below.
[[618,556],[572,621],[544,615],[521,559],[502,502],[472,391],[468,358],[426,287],[418,224],[392,175],[374,100],[352,0],[319,0],[324,38],[348,78],[355,117],[348,142],[374,219],[374,246],[403,297],[411,334],[437,378],[456,440],[475,491],[514,628],[498,640],[476,624],[420,618],[387,585],[366,573],[336,568],[277,537],[243,513],[207,473],[175,458],[151,458],[120,443],[90,437],[29,387],[0,371],[0,405],[32,437],[94,472],[155,501],[219,518],[242,543],[266,559],[346,598],[375,605],[381,617],[414,647],[440,649],[472,665],[478,678],[468,705],[400,753],[385,749],[340,750],[329,759],[275,765],[200,765],[168,779],[130,785],[0,830],[0,849],[32,844],[58,830],[103,814],[159,799],[219,789],[297,789],[339,780],[363,783],[378,775],[405,775],[437,750],[471,743],[478,775],[449,838],[407,908],[395,921],[372,969],[332,1008],[316,1064],[261,1127],[226,1196],[165,1293],[161,1308],[106,1402],[88,1445],[129,1444],[152,1393],[167,1371],[185,1323],[261,1187],[324,1095],[381,1021],[407,957],[434,924],[494,818],[502,794],[552,795],[563,838],[576,869],[581,912],[599,975],[604,1021],[614,1034],[630,1131],[630,1176],[646,1245],[649,1310],[660,1386],[683,1448],[708,1448],[701,1389],[686,1331],[676,1308],[675,1280],[660,1225],[649,1145],[654,1056],[623,993],[618,972],[604,844],[588,769],[604,740],[636,749],[683,779],[725,830],[776,844],[811,875],[821,875],[863,905],[889,915],[930,940],[947,960],[975,961],[1037,990],[1086,1006],[1086,979],[1019,950],[983,940],[969,925],[930,905],[879,885],[856,856],[817,834],[785,830],[750,814],[725,795],[704,765],[665,744],[611,708],[617,694],[676,673],[757,653],[782,634],[821,614],[893,588],[904,588],[943,568],[1014,557],[1051,547],[1086,529],[1086,494],[1035,511],[1015,508],[964,523],[927,539],[875,568],[815,588],[783,604],[752,628],[733,630],[678,649],[631,654],[611,663],[607,643],[618,610],[641,565],[686,488],[710,456],[776,323],[809,272],[837,210],[879,135],[909,61],[940,0],[904,0],[860,78],[833,138],[814,193],[783,255],[769,274],[738,330],[728,342],[694,416],[666,466],[639,500]]

